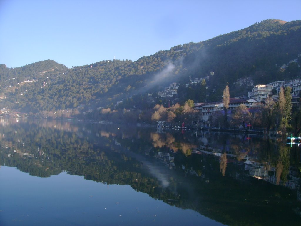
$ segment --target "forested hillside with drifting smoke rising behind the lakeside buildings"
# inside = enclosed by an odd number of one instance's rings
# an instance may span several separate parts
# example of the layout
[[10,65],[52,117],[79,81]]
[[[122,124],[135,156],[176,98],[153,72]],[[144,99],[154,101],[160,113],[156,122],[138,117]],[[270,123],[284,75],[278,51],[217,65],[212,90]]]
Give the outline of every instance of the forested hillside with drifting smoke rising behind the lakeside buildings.
[[[251,77],[255,84],[264,84],[300,76],[300,60],[280,70],[301,54],[300,37],[301,20],[269,19],[207,41],[160,50],[137,61],[105,60],[69,69],[51,60],[15,68],[1,64],[0,108],[36,113],[80,104],[114,106],[116,101],[155,93],[172,82],[180,84],[182,101],[215,101],[226,84],[231,96],[243,95],[247,90],[236,85],[239,78]],[[210,71],[214,75],[206,80],[208,89],[184,86]]]

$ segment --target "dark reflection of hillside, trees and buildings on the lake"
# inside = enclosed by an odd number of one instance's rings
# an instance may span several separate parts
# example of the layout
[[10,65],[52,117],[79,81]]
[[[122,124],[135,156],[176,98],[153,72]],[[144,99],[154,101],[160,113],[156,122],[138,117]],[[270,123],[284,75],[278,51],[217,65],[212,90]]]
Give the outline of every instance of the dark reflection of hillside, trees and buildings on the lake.
[[[128,184],[228,225],[299,225],[300,147],[259,136],[0,118],[0,164]],[[252,223],[250,223],[252,222]]]

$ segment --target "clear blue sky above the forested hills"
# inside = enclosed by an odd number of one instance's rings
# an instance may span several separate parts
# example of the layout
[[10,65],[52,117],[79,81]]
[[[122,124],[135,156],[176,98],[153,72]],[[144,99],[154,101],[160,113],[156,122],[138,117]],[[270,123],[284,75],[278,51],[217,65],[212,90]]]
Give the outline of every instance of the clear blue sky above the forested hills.
[[300,9],[301,0],[0,0],[0,63],[135,61],[269,18],[300,20]]

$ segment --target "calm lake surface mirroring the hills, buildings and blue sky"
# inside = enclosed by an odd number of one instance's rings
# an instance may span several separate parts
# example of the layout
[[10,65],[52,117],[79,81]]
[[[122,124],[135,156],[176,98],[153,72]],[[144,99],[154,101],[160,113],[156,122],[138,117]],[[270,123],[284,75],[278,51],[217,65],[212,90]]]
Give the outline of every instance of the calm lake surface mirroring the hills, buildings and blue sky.
[[300,225],[300,148],[0,118],[0,225]]

